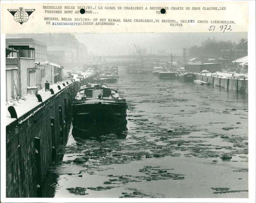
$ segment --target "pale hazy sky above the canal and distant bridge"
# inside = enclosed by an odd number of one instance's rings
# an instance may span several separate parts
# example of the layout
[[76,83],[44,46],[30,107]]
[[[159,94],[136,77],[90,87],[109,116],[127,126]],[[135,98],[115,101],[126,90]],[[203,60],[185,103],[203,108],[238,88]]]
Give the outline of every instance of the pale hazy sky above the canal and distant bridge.
[[231,40],[239,43],[247,39],[247,33],[85,33],[75,34],[76,39],[87,46],[88,53],[98,55],[128,55],[136,52],[134,44],[147,49],[148,54],[166,50],[181,55],[182,48],[201,46],[208,37],[215,40]]

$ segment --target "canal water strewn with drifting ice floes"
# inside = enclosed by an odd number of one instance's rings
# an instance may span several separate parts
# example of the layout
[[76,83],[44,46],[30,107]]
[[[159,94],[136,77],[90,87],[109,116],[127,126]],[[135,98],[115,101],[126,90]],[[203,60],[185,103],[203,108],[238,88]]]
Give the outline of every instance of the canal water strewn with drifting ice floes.
[[82,140],[71,127],[44,197],[248,198],[248,95],[119,75],[108,87],[126,99],[127,130]]

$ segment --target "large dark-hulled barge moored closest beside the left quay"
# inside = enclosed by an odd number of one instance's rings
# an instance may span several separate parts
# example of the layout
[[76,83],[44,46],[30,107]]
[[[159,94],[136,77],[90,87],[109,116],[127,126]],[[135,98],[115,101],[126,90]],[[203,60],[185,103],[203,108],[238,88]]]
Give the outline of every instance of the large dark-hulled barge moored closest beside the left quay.
[[98,135],[102,134],[106,130],[100,127],[104,126],[123,129],[127,122],[125,99],[120,98],[116,90],[102,84],[92,85],[88,84],[76,94],[72,104],[73,131],[90,136],[95,129],[98,129]]

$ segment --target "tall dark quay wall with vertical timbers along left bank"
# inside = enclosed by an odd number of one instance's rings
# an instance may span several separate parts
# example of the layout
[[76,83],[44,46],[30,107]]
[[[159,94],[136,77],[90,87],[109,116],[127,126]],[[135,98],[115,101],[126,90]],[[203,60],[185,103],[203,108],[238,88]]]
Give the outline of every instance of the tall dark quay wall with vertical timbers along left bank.
[[6,126],[7,198],[42,196],[43,180],[56,159],[56,148],[67,141],[76,91],[94,76],[60,85],[58,93]]

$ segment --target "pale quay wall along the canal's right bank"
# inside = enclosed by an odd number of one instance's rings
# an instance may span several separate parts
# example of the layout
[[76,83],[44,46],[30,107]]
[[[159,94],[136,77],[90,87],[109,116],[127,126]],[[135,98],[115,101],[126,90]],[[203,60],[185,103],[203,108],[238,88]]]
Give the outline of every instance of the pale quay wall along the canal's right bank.
[[225,88],[230,91],[238,91],[248,94],[248,80],[237,80],[235,78],[221,78],[196,74],[196,79],[210,83],[213,87]]

